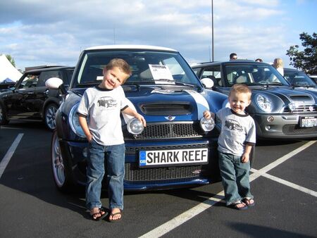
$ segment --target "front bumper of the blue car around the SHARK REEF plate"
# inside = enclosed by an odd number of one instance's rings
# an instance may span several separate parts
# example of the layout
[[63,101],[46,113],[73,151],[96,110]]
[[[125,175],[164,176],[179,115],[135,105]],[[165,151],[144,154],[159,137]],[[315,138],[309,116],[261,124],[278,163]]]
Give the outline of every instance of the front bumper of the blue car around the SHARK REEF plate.
[[[218,170],[217,139],[189,139],[175,142],[125,142],[125,190],[173,189],[193,187],[220,180]],[[72,168],[73,180],[85,185],[87,142],[60,141],[63,161]],[[194,149],[208,147],[209,163],[205,165],[173,165],[139,168],[138,151],[144,149]],[[103,187],[106,186],[104,181]]]

